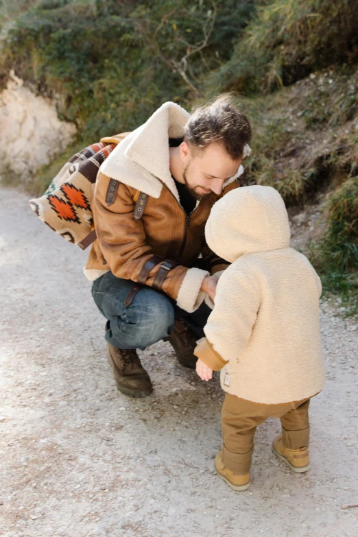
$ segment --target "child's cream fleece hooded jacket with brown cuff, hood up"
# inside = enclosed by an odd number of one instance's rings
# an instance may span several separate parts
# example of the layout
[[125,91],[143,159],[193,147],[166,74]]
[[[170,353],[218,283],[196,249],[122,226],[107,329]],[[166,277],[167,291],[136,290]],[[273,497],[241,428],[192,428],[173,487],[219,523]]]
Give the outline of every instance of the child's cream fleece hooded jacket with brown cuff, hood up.
[[195,349],[229,394],[278,404],[324,387],[320,278],[289,247],[285,204],[271,187],[243,187],[215,203],[205,228],[215,254],[232,263]]

